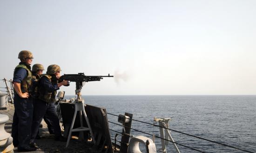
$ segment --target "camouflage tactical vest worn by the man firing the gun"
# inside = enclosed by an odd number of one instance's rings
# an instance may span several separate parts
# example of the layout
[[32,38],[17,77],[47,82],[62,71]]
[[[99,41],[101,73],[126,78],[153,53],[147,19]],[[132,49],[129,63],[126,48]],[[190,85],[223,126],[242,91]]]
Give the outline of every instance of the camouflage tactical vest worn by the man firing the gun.
[[[58,84],[57,83],[57,80],[52,80],[52,76],[48,75],[48,74],[42,74],[41,75],[41,78],[42,77],[47,77],[50,82],[55,85],[55,84]],[[40,80],[39,80],[39,83],[40,83]],[[44,102],[48,102],[48,103],[51,103],[51,102],[55,102],[55,96],[56,96],[56,93],[57,91],[53,91],[53,92],[48,92],[44,87],[42,87],[41,85],[39,85],[39,99],[44,101]]]

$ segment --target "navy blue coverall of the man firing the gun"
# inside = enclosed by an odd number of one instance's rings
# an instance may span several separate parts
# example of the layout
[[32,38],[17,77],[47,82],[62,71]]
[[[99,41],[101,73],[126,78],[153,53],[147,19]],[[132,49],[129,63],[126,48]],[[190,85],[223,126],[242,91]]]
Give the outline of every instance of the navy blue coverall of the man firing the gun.
[[[45,76],[40,78],[40,86],[40,88],[45,88],[47,92],[54,92],[55,90],[59,89],[57,84],[53,85]],[[44,115],[48,116],[48,119],[51,121],[54,127],[55,139],[58,139],[61,136],[60,121],[58,119],[54,103],[44,102],[39,99],[36,103],[34,103],[31,142],[34,142],[34,139],[37,135],[40,126],[40,122],[42,121]]]

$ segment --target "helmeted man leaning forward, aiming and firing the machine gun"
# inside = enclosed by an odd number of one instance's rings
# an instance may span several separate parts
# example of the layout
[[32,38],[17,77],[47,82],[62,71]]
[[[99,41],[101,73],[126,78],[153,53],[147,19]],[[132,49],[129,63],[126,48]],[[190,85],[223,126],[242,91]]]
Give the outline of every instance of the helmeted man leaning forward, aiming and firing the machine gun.
[[56,91],[60,89],[62,85],[68,84],[68,81],[65,80],[58,83],[58,79],[61,76],[60,71],[60,66],[53,64],[48,66],[46,74],[41,75],[38,88],[39,100],[34,103],[31,143],[34,143],[40,122],[44,115],[47,115],[52,122],[55,140],[67,141],[67,139],[61,135],[60,121],[54,107]]

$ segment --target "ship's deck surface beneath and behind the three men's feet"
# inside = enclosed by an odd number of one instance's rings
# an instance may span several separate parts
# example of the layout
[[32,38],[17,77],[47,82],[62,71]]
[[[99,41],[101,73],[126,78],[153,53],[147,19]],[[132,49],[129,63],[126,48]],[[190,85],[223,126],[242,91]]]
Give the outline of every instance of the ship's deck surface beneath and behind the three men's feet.
[[[14,113],[14,105],[8,104],[7,110],[0,110],[0,114],[5,114],[9,116],[9,121],[5,124],[5,130],[11,134],[12,132],[12,123],[13,123],[13,113]],[[88,147],[85,141],[79,141],[76,137],[73,137],[69,146],[66,147],[66,142],[56,141],[54,140],[54,135],[49,134],[47,129],[47,124],[42,121],[43,127],[40,128],[40,133],[43,138],[36,139],[36,144],[39,149],[34,152],[29,153],[93,153],[94,151]],[[17,147],[14,148],[14,153],[18,153]]]

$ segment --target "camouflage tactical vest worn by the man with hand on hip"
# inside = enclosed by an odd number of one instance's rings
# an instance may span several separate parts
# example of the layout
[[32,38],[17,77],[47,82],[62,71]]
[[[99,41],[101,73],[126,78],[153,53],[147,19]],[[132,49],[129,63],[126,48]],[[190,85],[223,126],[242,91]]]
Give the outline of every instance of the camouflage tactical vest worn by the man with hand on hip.
[[[26,66],[25,64],[19,64],[14,69],[14,74],[17,72],[18,69],[23,68],[27,70],[27,76],[21,81],[20,83],[20,89],[22,93],[29,92],[28,89],[32,83],[32,72],[30,70],[30,66]],[[16,91],[14,90],[14,93]]]

